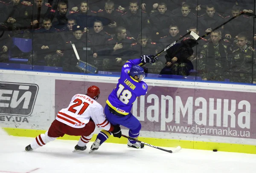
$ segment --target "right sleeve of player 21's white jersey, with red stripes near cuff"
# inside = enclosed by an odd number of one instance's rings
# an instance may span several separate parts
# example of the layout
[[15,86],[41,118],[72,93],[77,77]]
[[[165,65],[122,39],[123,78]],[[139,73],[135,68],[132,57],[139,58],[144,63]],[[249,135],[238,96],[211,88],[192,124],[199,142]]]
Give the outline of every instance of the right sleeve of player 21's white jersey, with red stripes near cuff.
[[106,116],[103,113],[102,106],[94,109],[94,112],[93,112],[93,115],[91,115],[91,118],[93,119],[93,122],[96,124],[98,128],[101,128],[110,132],[114,130],[113,125],[111,125],[110,122],[108,122],[108,120],[106,119]]

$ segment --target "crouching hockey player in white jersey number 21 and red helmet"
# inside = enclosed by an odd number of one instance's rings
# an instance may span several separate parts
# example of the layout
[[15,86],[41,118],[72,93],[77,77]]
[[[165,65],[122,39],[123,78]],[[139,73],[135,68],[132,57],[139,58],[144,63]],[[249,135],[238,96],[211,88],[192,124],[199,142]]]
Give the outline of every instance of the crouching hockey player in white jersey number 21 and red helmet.
[[122,135],[120,127],[113,126],[108,122],[102,105],[96,102],[99,94],[99,88],[93,85],[87,89],[86,95],[76,94],[73,96],[69,106],[58,112],[49,130],[37,136],[30,145],[25,147],[25,150],[35,150],[67,134],[81,136],[73,152],[83,151],[92,138],[96,126],[113,133],[114,137],[120,138]]

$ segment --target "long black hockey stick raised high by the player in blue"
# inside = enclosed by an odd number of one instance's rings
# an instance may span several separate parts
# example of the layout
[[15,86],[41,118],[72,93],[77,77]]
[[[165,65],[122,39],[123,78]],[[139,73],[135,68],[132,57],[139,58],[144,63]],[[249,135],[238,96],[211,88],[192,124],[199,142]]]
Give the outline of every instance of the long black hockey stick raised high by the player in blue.
[[[247,15],[249,17],[254,17],[256,18],[256,14],[253,14],[253,13],[248,13],[248,12],[243,12],[241,11],[239,14],[237,14],[236,16],[230,18],[230,20],[227,20],[226,22],[222,23],[220,26],[217,26],[216,28],[212,29],[212,31],[215,31],[217,30],[218,28],[221,28],[222,26],[226,25],[227,23],[229,23],[231,20],[235,19],[236,17],[239,17],[240,15]],[[183,35],[182,37],[180,37],[178,40],[176,40],[175,42],[173,42],[172,44],[168,45],[163,51],[160,51],[158,54],[156,54],[153,58],[155,59],[156,57],[158,57],[160,54],[162,54],[163,52],[165,52],[167,49],[171,48],[173,45],[175,45],[178,41],[180,41],[181,39],[183,39],[185,36],[187,35],[191,35],[192,37],[195,38],[195,40],[201,40],[202,38],[206,37],[207,35],[211,34],[211,32],[207,32],[206,34],[204,34],[202,37],[199,37],[197,34],[195,34],[195,32],[193,31],[189,31],[188,33],[186,33],[185,35]],[[139,64],[140,66],[143,66],[145,65],[145,63],[140,63]]]

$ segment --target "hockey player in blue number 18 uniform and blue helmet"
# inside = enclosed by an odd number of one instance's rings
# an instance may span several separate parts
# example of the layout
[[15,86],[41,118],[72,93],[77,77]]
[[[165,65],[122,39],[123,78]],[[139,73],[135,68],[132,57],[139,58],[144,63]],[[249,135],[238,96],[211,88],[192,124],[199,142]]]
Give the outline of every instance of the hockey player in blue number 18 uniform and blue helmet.
[[[122,67],[121,76],[118,80],[116,88],[113,89],[108,96],[107,104],[104,109],[106,118],[112,125],[122,125],[129,129],[129,136],[138,139],[140,135],[141,124],[140,121],[131,113],[131,108],[134,101],[139,96],[147,94],[148,85],[142,81],[145,77],[145,72],[140,63],[153,64],[157,58],[154,55],[143,55],[139,59],[128,60]],[[101,130],[93,142],[91,150],[98,150],[99,146],[105,142],[111,135],[106,130]],[[113,133],[115,137],[121,137],[121,130]],[[143,148],[144,144],[128,139],[128,147]]]

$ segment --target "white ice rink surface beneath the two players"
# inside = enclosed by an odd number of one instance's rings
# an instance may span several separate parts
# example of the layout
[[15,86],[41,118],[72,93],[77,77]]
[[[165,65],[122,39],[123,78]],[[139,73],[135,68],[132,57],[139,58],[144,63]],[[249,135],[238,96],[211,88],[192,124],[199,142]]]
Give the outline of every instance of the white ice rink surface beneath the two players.
[[33,138],[0,137],[0,173],[255,173],[256,167],[253,154],[191,149],[167,153],[111,143],[89,154],[92,142],[85,151],[73,153],[77,142],[67,140],[26,152]]

